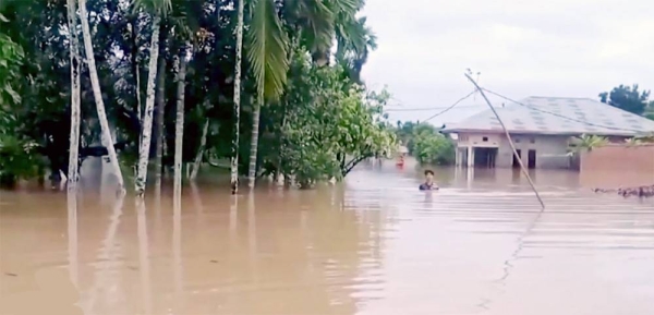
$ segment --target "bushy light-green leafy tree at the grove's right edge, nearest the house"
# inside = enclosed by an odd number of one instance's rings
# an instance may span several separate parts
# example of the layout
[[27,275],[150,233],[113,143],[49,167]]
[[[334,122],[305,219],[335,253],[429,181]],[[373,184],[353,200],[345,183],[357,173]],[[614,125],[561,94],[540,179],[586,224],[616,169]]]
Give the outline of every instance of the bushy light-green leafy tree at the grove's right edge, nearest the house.
[[281,107],[286,108],[281,171],[302,186],[342,179],[360,161],[395,148],[383,110],[388,93],[367,93],[342,80],[340,66],[311,66],[295,53]]

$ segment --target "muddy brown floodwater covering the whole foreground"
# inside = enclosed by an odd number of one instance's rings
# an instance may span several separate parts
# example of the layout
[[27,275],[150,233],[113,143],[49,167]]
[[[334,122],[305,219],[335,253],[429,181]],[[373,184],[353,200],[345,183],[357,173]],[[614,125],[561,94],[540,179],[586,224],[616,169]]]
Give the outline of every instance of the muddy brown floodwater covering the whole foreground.
[[654,199],[533,177],[545,211],[512,170],[395,166],[181,207],[0,192],[0,314],[654,314]]

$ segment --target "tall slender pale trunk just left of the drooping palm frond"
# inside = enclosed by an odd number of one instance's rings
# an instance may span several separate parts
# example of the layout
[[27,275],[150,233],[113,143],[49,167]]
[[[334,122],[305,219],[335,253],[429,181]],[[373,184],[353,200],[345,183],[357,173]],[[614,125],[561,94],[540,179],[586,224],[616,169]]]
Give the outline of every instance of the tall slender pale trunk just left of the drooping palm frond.
[[241,123],[241,59],[243,50],[243,9],[245,0],[239,0],[237,20],[237,64],[234,68],[234,137],[232,138],[231,191],[239,192],[239,124]]

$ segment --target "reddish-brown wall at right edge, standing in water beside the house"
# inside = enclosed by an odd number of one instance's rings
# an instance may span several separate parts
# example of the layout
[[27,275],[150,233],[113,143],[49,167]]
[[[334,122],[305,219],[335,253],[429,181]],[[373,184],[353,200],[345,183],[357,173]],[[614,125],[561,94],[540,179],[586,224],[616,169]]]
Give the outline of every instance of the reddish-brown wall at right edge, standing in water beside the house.
[[581,154],[581,182],[598,187],[654,184],[654,144],[609,144]]

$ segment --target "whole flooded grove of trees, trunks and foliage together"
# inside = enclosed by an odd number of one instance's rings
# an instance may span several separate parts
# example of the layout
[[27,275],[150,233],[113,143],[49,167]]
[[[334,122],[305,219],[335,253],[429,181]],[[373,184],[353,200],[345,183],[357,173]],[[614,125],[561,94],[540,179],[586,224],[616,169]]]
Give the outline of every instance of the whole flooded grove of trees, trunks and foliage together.
[[360,78],[363,2],[1,1],[0,177],[74,174],[78,140],[136,170],[137,193],[225,159],[234,192],[241,175],[342,179],[396,147],[388,93]]

